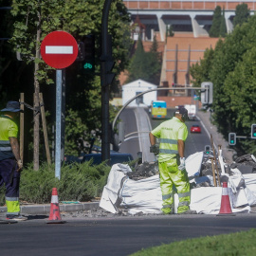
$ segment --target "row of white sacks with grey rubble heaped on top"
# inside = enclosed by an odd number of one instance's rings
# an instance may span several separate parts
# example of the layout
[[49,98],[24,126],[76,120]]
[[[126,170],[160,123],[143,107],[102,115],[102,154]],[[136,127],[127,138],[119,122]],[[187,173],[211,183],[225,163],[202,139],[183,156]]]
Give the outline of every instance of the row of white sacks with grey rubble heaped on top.
[[[217,155],[218,154],[218,155]],[[198,152],[186,159],[191,184],[191,210],[217,214],[222,183],[228,182],[233,212],[253,212],[256,206],[256,158],[248,154],[228,164],[221,150],[213,156]],[[174,213],[178,196],[174,194]],[[113,165],[101,196],[100,207],[112,213],[161,213],[162,194],[157,162],[143,162],[132,171],[128,165]]]

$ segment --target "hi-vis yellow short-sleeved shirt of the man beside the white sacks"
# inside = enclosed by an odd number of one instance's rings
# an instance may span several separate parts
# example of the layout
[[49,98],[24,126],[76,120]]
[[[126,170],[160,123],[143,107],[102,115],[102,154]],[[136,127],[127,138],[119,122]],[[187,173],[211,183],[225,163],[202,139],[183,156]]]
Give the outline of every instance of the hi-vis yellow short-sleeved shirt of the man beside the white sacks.
[[151,133],[159,138],[158,161],[164,162],[178,154],[177,140],[187,139],[188,128],[184,122],[174,117],[162,122]]

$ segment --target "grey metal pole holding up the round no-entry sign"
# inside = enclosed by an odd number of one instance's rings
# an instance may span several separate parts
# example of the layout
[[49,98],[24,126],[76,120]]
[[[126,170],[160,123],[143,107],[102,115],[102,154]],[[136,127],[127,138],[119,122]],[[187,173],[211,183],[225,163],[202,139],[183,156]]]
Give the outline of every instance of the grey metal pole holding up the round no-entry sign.
[[62,147],[62,69],[56,70],[56,133],[55,133],[55,177],[61,179]]

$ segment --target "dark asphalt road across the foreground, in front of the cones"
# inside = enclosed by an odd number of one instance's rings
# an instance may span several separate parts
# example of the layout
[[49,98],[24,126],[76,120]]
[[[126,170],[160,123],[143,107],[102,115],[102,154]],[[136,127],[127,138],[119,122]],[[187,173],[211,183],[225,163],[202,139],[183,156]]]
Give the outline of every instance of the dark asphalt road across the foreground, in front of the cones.
[[[43,218],[43,216],[42,216]],[[256,228],[254,214],[63,218],[65,224],[33,219],[0,225],[1,256],[126,256],[141,248]]]

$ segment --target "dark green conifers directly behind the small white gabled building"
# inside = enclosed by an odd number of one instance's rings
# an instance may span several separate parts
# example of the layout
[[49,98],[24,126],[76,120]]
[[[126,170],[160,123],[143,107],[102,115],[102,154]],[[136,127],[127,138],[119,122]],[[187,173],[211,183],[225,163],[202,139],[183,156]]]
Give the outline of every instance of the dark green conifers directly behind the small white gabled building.
[[126,82],[138,79],[159,84],[161,72],[161,56],[157,52],[157,42],[154,37],[149,52],[145,52],[141,39],[137,41],[137,50],[129,66],[129,76]]

